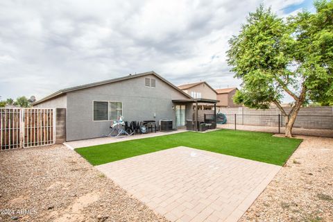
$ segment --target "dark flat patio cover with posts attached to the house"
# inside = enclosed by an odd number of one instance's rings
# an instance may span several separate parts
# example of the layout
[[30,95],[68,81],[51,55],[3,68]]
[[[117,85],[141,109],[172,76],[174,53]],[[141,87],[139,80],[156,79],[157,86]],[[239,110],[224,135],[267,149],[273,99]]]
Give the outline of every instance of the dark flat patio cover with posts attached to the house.
[[198,131],[199,130],[199,121],[198,121],[198,105],[200,104],[214,104],[214,123],[216,123],[216,103],[219,103],[218,100],[214,100],[214,99],[174,99],[172,101],[173,103],[176,104],[192,104],[195,105],[195,109],[194,109],[194,130]]

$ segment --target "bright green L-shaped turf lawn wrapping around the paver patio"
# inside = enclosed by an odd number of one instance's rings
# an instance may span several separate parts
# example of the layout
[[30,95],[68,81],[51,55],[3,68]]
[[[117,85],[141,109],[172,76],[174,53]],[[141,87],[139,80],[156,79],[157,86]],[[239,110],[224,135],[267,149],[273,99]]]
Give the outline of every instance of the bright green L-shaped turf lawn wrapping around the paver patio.
[[184,132],[77,148],[76,152],[91,164],[100,165],[176,146],[188,146],[282,166],[302,139],[272,137],[272,135],[272,133],[243,130],[216,130],[210,133]]

